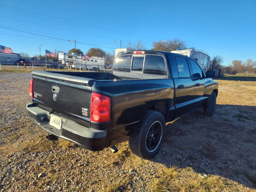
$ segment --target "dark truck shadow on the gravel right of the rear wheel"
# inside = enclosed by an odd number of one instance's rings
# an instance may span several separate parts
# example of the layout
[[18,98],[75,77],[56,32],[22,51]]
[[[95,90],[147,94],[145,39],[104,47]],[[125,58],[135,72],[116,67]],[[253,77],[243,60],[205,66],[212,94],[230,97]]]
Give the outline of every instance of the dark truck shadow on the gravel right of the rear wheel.
[[151,161],[256,187],[256,106],[216,105],[214,116],[197,110],[167,124],[162,149]]

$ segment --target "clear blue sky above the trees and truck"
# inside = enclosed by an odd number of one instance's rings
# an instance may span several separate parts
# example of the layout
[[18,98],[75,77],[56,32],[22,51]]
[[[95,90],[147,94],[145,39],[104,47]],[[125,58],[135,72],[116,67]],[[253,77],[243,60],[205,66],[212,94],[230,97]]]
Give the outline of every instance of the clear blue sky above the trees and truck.
[[39,45],[41,54],[45,49],[67,52],[74,47],[68,39],[84,43],[76,44],[83,52],[102,46],[114,53],[120,40],[122,48],[128,41],[142,40],[150,49],[153,41],[180,38],[211,57],[222,56],[228,65],[232,60],[256,60],[255,10],[255,0],[5,1],[0,3],[0,44],[33,56],[39,54]]

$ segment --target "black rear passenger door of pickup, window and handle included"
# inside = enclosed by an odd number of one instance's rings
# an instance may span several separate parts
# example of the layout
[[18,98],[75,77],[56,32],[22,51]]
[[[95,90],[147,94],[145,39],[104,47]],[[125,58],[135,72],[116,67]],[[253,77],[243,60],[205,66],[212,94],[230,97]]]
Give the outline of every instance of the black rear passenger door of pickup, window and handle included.
[[191,78],[187,59],[175,56],[175,62],[178,70],[178,76],[174,78],[174,107],[176,108],[175,118],[177,118],[194,110],[195,84]]

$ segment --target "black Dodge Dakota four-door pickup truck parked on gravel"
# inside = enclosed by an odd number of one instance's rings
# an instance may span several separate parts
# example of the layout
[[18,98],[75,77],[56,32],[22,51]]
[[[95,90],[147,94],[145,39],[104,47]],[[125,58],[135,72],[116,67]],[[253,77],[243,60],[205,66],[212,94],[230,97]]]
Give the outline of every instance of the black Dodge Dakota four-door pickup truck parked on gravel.
[[215,111],[218,83],[190,57],[161,51],[119,53],[111,72],[33,71],[29,116],[49,134],[85,149],[129,140],[135,155],[160,150],[166,122]]

